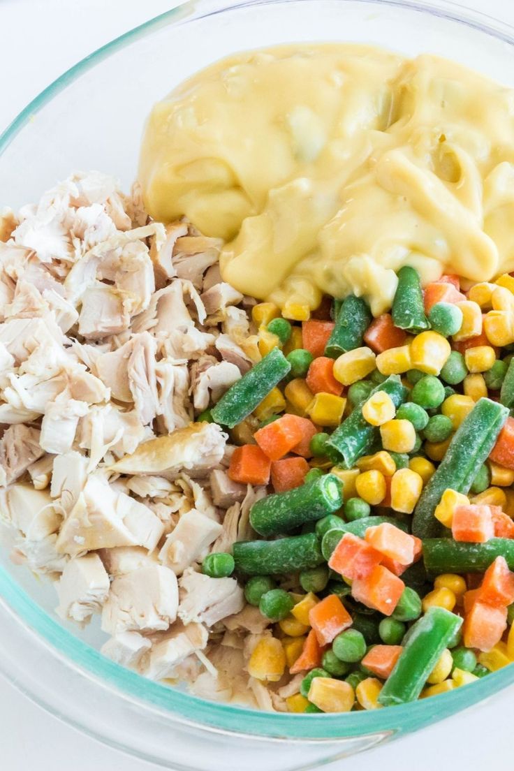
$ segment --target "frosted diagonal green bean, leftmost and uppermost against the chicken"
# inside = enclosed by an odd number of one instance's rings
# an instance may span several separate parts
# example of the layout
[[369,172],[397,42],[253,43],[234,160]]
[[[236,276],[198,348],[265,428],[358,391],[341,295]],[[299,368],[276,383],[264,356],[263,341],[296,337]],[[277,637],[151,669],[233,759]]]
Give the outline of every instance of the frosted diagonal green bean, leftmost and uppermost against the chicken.
[[254,412],[265,396],[274,389],[277,383],[289,374],[291,364],[287,361],[280,348],[273,348],[264,359],[261,359],[252,369],[237,380],[223,394],[220,401],[212,409],[213,419],[222,426],[233,429]]

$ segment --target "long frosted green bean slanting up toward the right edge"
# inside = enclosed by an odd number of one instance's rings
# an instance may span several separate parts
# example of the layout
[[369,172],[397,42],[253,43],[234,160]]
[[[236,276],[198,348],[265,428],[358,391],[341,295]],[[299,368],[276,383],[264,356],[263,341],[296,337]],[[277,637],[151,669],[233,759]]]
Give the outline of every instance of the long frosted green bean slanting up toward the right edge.
[[434,517],[434,510],[442,493],[448,487],[458,493],[469,492],[477,471],[489,457],[508,416],[506,407],[490,399],[476,402],[455,432],[444,458],[418,500],[412,520],[415,536],[428,538],[438,535],[440,524]]

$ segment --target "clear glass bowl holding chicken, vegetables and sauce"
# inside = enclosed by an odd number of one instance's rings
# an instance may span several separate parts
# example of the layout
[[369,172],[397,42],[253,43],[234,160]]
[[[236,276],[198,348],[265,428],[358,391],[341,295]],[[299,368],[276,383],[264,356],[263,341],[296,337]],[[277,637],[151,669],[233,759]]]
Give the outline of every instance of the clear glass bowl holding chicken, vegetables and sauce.
[[[449,56],[514,86],[514,29],[447,0],[200,0],[126,33],[65,72],[0,136],[0,205],[37,200],[72,170],[129,188],[150,107],[221,56],[281,42],[367,42]],[[255,712],[150,682],[103,658],[98,626],[58,621],[55,591],[0,555],[0,670],[103,742],[173,769],[292,771],[376,746],[481,702],[514,667],[410,705],[346,715]]]

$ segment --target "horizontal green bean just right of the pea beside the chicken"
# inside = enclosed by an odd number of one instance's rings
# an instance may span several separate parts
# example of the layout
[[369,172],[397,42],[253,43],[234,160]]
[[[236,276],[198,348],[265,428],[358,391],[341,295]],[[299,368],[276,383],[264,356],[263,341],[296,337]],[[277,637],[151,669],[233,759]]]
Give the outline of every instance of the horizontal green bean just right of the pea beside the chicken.
[[315,533],[277,540],[240,540],[233,544],[233,558],[236,570],[247,575],[287,574],[324,562]]

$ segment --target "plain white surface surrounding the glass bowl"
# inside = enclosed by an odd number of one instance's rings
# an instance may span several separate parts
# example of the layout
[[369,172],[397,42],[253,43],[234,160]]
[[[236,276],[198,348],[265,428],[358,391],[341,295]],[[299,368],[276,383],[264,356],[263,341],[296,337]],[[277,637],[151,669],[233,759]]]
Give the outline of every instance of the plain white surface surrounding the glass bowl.
[[[173,0],[0,0],[0,131],[69,66],[173,5]],[[467,0],[467,5],[514,24],[512,0]],[[368,771],[371,764],[381,771],[512,769],[513,703],[514,688],[434,728],[327,771]],[[58,722],[2,679],[0,757],[4,771],[156,769]]]

